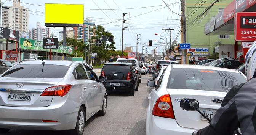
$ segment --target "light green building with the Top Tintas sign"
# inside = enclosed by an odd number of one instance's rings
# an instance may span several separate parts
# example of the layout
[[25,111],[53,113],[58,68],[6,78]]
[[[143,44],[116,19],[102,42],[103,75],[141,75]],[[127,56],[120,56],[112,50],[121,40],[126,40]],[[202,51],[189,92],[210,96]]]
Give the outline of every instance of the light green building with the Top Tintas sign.
[[[187,49],[187,62],[189,58],[195,60],[205,58],[233,57],[234,54],[234,34],[218,33],[216,35],[205,35],[205,23],[209,22],[213,16],[223,12],[223,9],[233,0],[222,0],[219,2],[206,0],[198,6],[197,0],[186,0],[186,42],[191,44],[191,49]],[[211,4],[213,4],[211,6]],[[218,21],[216,19],[216,21]],[[218,46],[220,47],[218,51]],[[215,49],[217,48],[217,49]]]

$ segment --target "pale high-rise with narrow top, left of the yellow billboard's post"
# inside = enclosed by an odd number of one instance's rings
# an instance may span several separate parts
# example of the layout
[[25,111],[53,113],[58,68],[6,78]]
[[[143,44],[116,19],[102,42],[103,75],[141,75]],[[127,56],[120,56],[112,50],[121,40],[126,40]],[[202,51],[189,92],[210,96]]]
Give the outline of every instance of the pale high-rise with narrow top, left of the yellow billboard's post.
[[43,38],[50,38],[50,29],[42,27],[40,22],[37,22],[37,27],[31,29],[31,39],[42,41]]

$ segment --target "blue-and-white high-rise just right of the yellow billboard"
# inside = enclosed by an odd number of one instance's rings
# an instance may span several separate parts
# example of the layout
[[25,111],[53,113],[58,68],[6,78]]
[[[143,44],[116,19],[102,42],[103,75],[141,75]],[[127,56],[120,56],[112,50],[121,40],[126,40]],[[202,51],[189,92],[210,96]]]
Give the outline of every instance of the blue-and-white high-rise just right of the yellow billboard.
[[95,31],[96,25],[93,23],[92,19],[86,18],[83,23],[83,27],[74,27],[74,38],[83,39],[84,42],[88,43],[92,36],[96,36]]

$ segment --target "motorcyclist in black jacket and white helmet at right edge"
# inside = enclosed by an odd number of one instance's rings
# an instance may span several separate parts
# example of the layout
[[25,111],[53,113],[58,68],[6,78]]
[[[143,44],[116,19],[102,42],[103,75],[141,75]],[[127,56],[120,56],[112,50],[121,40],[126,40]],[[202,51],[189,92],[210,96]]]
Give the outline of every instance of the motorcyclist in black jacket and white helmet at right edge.
[[216,111],[209,126],[193,135],[232,135],[240,128],[242,135],[256,135],[256,41],[245,56],[248,82],[234,86]]

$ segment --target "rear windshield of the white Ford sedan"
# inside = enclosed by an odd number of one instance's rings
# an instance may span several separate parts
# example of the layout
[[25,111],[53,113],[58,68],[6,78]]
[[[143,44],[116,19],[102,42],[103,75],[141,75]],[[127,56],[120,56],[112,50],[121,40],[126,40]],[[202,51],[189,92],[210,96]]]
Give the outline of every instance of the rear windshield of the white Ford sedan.
[[173,68],[167,88],[228,92],[233,86],[245,82],[245,77],[235,72]]

